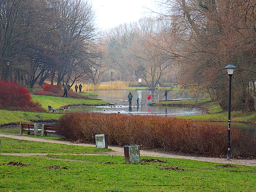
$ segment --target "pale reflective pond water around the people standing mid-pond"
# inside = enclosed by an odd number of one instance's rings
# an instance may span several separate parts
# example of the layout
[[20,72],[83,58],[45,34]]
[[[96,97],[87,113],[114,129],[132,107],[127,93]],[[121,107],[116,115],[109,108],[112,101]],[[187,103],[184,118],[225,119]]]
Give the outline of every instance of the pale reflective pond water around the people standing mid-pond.
[[[128,93],[132,94],[131,107],[128,105]],[[187,106],[150,106],[148,105],[147,97],[152,96],[151,102],[160,101],[164,99],[163,92],[150,92],[150,91],[96,91],[97,98],[104,101],[113,103],[112,106],[99,106],[99,107],[71,107],[70,111],[94,111],[102,113],[123,113],[123,114],[140,114],[140,115],[165,115],[165,116],[188,116],[200,115],[202,111],[197,108]],[[139,104],[137,105],[136,99],[140,97]],[[168,92],[167,99],[190,99],[194,98],[192,94],[181,94],[179,92]]]

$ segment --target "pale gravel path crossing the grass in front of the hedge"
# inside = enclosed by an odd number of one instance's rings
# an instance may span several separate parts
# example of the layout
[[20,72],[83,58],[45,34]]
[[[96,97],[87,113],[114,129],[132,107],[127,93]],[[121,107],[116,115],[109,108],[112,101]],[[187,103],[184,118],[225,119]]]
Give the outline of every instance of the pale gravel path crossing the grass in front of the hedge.
[[[9,137],[14,139],[21,139],[21,140],[29,140],[29,141],[39,141],[39,142],[46,142],[46,143],[60,143],[66,145],[79,145],[79,146],[86,146],[86,147],[96,147],[93,144],[84,144],[84,143],[71,143],[67,141],[59,141],[59,140],[50,140],[44,138],[36,138],[36,137],[28,137],[28,136],[19,136],[19,135],[6,135],[0,134],[0,137]],[[113,147],[108,146],[109,149],[113,150],[113,152],[109,152],[107,155],[116,155],[116,156],[124,156],[124,148],[123,147]],[[11,156],[42,156],[46,155],[45,153],[0,153],[0,155],[11,155]],[[63,155],[63,154],[62,154]],[[77,155],[77,154],[74,154]],[[86,154],[88,155],[88,154]],[[95,154],[90,154],[95,155]],[[217,162],[217,163],[224,163],[224,164],[241,164],[241,165],[248,165],[248,166],[256,166],[256,160],[226,160],[225,158],[212,158],[212,157],[196,157],[196,156],[187,156],[187,155],[177,155],[172,153],[161,153],[161,152],[153,152],[153,151],[146,151],[140,150],[140,156],[149,156],[149,157],[164,157],[164,158],[177,158],[177,159],[188,159],[188,160],[201,160],[201,161],[208,161],[208,162]]]

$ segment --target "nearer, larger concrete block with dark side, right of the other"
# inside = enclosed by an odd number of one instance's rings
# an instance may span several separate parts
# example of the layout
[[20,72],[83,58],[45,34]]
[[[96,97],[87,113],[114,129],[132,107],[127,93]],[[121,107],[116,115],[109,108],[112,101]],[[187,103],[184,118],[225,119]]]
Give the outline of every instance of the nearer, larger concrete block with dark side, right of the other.
[[139,145],[124,146],[126,163],[140,162]]

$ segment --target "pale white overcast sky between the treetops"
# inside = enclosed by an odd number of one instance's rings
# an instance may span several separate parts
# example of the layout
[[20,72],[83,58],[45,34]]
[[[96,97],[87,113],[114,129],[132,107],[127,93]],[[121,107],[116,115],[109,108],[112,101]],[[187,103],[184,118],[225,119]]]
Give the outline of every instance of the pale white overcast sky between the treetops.
[[102,30],[139,20],[154,9],[153,0],[91,0],[96,11],[96,23]]

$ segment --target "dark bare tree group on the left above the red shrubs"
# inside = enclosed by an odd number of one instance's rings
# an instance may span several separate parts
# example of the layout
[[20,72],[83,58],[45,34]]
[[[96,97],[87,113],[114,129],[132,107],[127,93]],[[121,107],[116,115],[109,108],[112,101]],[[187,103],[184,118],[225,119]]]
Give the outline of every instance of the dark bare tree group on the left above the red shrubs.
[[93,48],[95,13],[88,0],[1,0],[0,8],[2,79],[10,73],[10,80],[33,87],[46,78],[90,78],[86,69],[100,55]]

